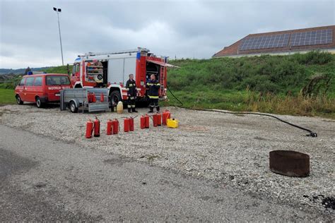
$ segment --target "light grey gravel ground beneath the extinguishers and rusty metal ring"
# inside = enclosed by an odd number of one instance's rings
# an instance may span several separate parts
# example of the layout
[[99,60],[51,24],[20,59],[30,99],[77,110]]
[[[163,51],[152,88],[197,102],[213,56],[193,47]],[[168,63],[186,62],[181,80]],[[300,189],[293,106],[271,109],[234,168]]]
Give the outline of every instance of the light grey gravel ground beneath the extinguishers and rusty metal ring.
[[[123,129],[125,114],[71,114],[58,107],[37,109],[33,104],[0,107],[1,122],[84,147],[105,150],[151,165],[189,174],[196,178],[221,181],[261,198],[288,203],[307,211],[332,215],[322,200],[334,197],[335,121],[331,119],[279,116],[317,132],[317,138],[264,116],[237,116],[168,107],[179,128],[165,126],[105,135],[107,119],[117,118]],[[139,109],[145,114],[147,109]],[[100,138],[86,139],[86,121],[98,116]],[[269,170],[271,150],[295,150],[310,155],[311,174],[293,178]]]

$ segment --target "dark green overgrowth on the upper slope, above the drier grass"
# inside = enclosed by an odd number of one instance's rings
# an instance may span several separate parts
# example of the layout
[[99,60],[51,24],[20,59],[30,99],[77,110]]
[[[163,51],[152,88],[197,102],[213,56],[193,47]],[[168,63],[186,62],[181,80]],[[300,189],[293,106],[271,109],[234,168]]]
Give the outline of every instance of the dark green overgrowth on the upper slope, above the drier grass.
[[322,75],[331,78],[327,93],[335,93],[335,55],[329,53],[179,59],[170,64],[180,66],[168,70],[167,83],[172,90],[225,92],[249,88],[256,92],[298,95],[310,78]]

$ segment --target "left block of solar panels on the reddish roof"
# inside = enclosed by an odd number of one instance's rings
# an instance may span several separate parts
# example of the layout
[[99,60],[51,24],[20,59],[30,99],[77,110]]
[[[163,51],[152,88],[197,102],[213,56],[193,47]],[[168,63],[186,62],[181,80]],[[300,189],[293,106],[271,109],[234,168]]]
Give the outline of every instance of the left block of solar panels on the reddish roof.
[[289,37],[289,34],[248,37],[240,44],[240,50],[287,47]]

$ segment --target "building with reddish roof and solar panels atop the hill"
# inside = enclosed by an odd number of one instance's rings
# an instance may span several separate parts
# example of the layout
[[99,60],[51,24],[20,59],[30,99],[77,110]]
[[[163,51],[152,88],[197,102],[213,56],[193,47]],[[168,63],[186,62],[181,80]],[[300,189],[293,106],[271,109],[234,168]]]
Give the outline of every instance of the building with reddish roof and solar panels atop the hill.
[[294,54],[322,50],[335,54],[335,25],[250,34],[213,57]]

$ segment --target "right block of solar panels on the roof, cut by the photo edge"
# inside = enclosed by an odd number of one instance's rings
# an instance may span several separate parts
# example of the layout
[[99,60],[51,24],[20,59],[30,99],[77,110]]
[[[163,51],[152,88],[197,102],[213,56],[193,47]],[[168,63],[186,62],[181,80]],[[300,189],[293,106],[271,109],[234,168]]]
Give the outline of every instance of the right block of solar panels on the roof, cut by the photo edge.
[[290,46],[309,46],[317,44],[330,44],[333,42],[333,30],[316,30],[309,32],[296,32],[290,35]]

